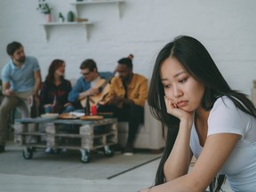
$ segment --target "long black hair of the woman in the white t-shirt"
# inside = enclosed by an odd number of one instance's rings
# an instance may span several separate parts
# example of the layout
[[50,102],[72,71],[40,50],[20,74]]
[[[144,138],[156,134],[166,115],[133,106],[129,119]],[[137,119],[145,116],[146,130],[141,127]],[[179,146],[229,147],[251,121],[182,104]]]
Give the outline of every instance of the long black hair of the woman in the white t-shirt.
[[[151,77],[148,91],[148,105],[152,115],[162,123],[163,136],[164,127],[167,128],[166,146],[164,155],[156,172],[155,185],[164,183],[164,163],[172,151],[173,144],[179,132],[180,120],[167,113],[164,103],[164,86],[161,82],[160,67],[164,60],[173,57],[179,60],[183,68],[193,76],[196,81],[204,84],[205,90],[201,105],[205,110],[211,110],[215,100],[226,95],[246,114],[256,117],[256,109],[252,101],[245,94],[232,90],[220,70],[215,65],[209,52],[204,45],[190,36],[178,36],[171,43],[166,44],[158,53],[156,63]],[[211,191],[220,191],[225,180],[225,175],[219,175],[210,184]],[[216,186],[217,185],[217,186]]]

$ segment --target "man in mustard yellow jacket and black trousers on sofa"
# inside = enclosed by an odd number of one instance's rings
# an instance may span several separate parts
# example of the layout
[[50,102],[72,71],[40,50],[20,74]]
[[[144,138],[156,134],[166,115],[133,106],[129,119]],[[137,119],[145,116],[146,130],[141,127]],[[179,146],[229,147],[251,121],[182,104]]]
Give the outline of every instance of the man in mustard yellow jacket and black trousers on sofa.
[[148,80],[132,72],[131,58],[118,60],[117,72],[113,77],[105,100],[100,102],[99,112],[113,112],[118,121],[128,121],[129,132],[124,155],[133,154],[133,141],[144,122],[144,105],[148,98]]

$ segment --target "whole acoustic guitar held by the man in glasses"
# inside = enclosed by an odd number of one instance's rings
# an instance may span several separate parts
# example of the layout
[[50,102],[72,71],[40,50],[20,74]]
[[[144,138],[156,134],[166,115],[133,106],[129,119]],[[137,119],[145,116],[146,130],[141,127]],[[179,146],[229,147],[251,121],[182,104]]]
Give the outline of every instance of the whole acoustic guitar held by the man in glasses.
[[[103,100],[106,95],[109,92],[110,89],[110,84],[109,82],[111,81],[112,77],[116,75],[116,70],[108,77],[108,79],[103,79],[101,78],[95,87],[98,87],[99,93],[97,95],[90,95],[90,105],[98,105],[101,100]],[[81,100],[81,105],[83,108],[85,107],[86,103],[86,98],[84,100]]]

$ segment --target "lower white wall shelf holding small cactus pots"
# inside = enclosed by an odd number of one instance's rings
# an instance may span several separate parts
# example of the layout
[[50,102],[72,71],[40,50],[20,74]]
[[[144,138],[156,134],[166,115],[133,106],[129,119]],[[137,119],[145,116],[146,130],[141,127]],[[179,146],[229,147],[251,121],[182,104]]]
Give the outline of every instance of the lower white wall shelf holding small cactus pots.
[[45,31],[45,38],[48,41],[49,40],[49,32],[47,28],[51,28],[51,27],[58,27],[58,26],[84,26],[85,28],[85,37],[86,40],[88,40],[88,29],[87,27],[89,25],[92,25],[91,22],[86,21],[86,22],[48,22],[48,23],[43,23],[41,24],[42,26],[44,26],[44,31]]

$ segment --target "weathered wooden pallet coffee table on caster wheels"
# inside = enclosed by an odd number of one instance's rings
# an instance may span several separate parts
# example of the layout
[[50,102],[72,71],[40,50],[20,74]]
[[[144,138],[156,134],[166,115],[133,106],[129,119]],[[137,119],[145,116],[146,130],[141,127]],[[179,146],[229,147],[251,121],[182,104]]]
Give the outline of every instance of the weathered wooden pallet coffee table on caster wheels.
[[[45,124],[43,131],[28,132],[28,124]],[[74,132],[63,132],[65,124],[73,126]],[[67,127],[67,126],[66,126]],[[79,129],[79,130],[77,130]],[[101,120],[81,119],[47,119],[42,117],[15,119],[14,140],[23,146],[25,159],[33,157],[35,148],[52,148],[56,153],[61,148],[78,149],[81,161],[91,161],[90,151],[104,148],[105,156],[113,156],[114,151],[109,146],[117,143],[117,119]],[[31,140],[33,138],[33,140]]]

